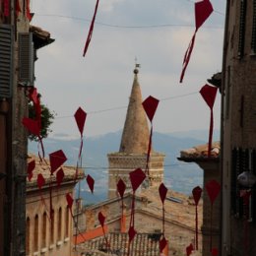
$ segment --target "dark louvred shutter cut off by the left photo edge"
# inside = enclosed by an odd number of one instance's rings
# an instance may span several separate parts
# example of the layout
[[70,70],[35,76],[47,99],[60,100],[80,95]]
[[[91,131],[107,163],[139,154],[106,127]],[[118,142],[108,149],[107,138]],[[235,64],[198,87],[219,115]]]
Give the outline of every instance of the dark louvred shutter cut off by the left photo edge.
[[12,96],[13,30],[0,25],[0,98]]

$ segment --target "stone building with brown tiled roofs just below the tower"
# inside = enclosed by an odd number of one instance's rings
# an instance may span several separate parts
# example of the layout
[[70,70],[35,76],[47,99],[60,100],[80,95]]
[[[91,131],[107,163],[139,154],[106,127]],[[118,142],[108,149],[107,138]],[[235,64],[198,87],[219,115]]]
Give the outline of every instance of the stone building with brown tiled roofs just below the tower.
[[[124,196],[124,211],[120,198],[112,198],[85,208],[83,218],[84,232],[78,236],[78,256],[96,254],[105,249],[102,227],[97,216],[105,216],[104,230],[110,243],[110,250],[119,251],[126,256],[128,249],[128,230],[131,218],[132,194]],[[186,246],[195,242],[195,205],[188,196],[168,191],[164,202],[164,233],[168,241],[163,255],[184,255]],[[198,224],[202,225],[202,200],[198,206]],[[122,214],[123,213],[123,214]],[[135,229],[137,235],[131,245],[133,255],[160,255],[159,241],[162,232],[162,205],[157,187],[151,187],[135,197]],[[153,238],[156,238],[153,239]],[[199,230],[199,248],[202,254],[202,232]],[[155,243],[157,242],[157,244]],[[118,255],[118,254],[117,254]]]

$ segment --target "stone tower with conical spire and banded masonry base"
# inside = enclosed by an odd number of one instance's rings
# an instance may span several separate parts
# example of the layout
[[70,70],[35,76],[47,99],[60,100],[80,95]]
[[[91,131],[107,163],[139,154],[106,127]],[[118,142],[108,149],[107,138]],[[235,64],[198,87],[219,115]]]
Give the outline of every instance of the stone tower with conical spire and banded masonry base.
[[[134,81],[119,152],[108,157],[108,198],[117,196],[116,184],[119,178],[126,183],[126,192],[131,191],[129,173],[136,168],[146,167],[150,131],[142,105],[141,88],[138,82],[139,70],[134,70]],[[164,155],[152,149],[149,168],[150,186],[159,186],[163,180]]]

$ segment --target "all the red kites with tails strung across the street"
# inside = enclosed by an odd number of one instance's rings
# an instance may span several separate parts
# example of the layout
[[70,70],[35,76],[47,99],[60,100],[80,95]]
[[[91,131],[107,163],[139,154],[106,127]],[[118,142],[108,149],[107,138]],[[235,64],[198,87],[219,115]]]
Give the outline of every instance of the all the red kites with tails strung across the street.
[[[7,0],[2,0],[4,1],[4,13],[5,16],[9,15],[9,1]],[[95,20],[96,20],[96,11],[97,11],[97,7],[98,7],[98,2],[99,0],[96,0],[96,8],[95,8],[95,13],[94,13],[94,17],[90,26],[90,31],[88,34],[88,38],[85,44],[85,48],[84,48],[84,54],[83,56],[86,55],[90,41],[92,39],[92,35],[93,35],[93,31],[94,31],[94,25],[95,25]],[[16,1],[17,5],[16,5],[16,11],[19,14],[19,12],[21,12],[21,8],[20,8],[20,4],[19,1]],[[31,20],[31,13],[30,13],[30,0],[27,0],[27,17],[29,20]],[[183,68],[182,68],[182,72],[181,72],[181,76],[180,76],[180,83],[182,83],[183,81],[183,77],[185,74],[185,70],[187,68],[187,65],[189,63],[189,59],[193,50],[193,46],[194,46],[194,42],[195,42],[195,36],[196,36],[196,32],[198,32],[199,28],[204,24],[204,22],[208,19],[208,17],[212,14],[213,12],[213,7],[212,4],[209,0],[203,0],[200,2],[196,2],[195,3],[195,20],[196,20],[196,29],[195,32],[193,34],[193,37],[189,43],[188,49],[185,53],[184,56],[184,60],[183,60]],[[34,112],[35,112],[35,117],[34,119],[32,118],[28,118],[28,117],[24,117],[23,118],[23,124],[24,126],[29,130],[30,133],[32,133],[33,135],[37,136],[38,138],[38,142],[40,144],[40,148],[41,148],[41,154],[38,152],[38,155],[40,157],[40,160],[44,160],[44,148],[43,148],[43,143],[42,143],[42,138],[40,136],[40,130],[41,130],[41,123],[40,123],[40,116],[41,116],[41,109],[40,109],[40,100],[39,100],[39,96],[36,92],[35,88],[31,88],[29,90],[29,97],[30,100],[33,103],[33,107],[34,107]],[[215,103],[215,98],[217,95],[217,88],[215,87],[211,87],[209,85],[205,85],[204,87],[202,87],[202,89],[200,90],[200,94],[201,96],[204,98],[204,100],[206,101],[206,103],[208,104],[208,106],[210,107],[211,110],[211,119],[210,119],[210,131],[209,131],[209,149],[208,149],[208,156],[211,156],[211,148],[212,148],[212,136],[213,136],[213,127],[214,127],[214,118],[213,118],[213,106]],[[143,107],[146,111],[146,114],[151,122],[151,133],[150,133],[150,138],[149,138],[149,147],[148,147],[148,153],[147,153],[147,161],[146,161],[146,167],[145,167],[145,171],[143,171],[141,168],[137,168],[133,171],[131,171],[129,173],[130,175],[130,182],[131,182],[131,186],[132,186],[132,192],[133,192],[133,198],[132,198],[132,205],[131,205],[131,217],[130,217],[130,225],[129,225],[129,230],[128,230],[128,235],[129,235],[129,245],[132,242],[133,238],[136,235],[136,230],[135,230],[135,193],[136,190],[143,184],[143,182],[147,183],[149,182],[149,176],[150,176],[150,169],[149,169],[149,161],[150,161],[150,155],[151,155],[151,148],[152,148],[152,136],[153,136],[153,118],[155,115],[155,112],[157,110],[158,104],[159,104],[159,99],[153,97],[153,96],[149,96],[148,98],[146,98],[144,100],[144,102],[142,103]],[[75,181],[78,178],[78,168],[79,168],[79,162],[81,160],[81,155],[82,155],[82,150],[83,150],[83,133],[84,133],[84,126],[85,126],[85,122],[86,122],[86,118],[87,118],[87,113],[81,108],[79,107],[78,110],[76,111],[76,113],[74,114],[80,135],[81,135],[81,143],[80,143],[80,150],[79,150],[79,155],[78,155],[78,160],[77,160],[77,168],[76,168],[76,174],[74,176]],[[67,160],[65,154],[63,153],[62,150],[53,152],[51,154],[49,154],[49,163],[44,160],[46,162],[46,164],[48,165],[49,168],[49,173],[50,173],[50,182],[49,182],[49,193],[50,193],[50,217],[49,219],[52,218],[52,213],[53,213],[53,207],[52,207],[52,197],[51,197],[51,193],[52,193],[52,183],[54,182],[54,172],[55,176],[56,176],[56,183],[57,186],[60,186],[63,179],[64,179],[64,171],[61,167],[61,165]],[[32,171],[35,168],[35,162],[34,160],[30,161],[28,163],[28,179],[31,180],[32,179]],[[92,191],[92,193],[94,192],[94,185],[95,185],[95,180],[92,176],[90,176],[89,174],[86,176],[87,179],[87,183]],[[43,177],[43,175],[41,173],[37,174],[37,186],[38,189],[40,190],[43,186],[45,185],[45,179]],[[211,180],[206,184],[206,190],[208,192],[209,198],[211,200],[211,212],[213,212],[213,204],[214,201],[216,200],[219,192],[220,192],[221,186],[220,184],[216,181],[216,180]],[[117,191],[119,193],[119,196],[121,198],[121,211],[122,211],[122,216],[123,216],[123,211],[124,211],[124,204],[123,204],[123,197],[124,197],[124,193],[126,190],[126,184],[124,183],[124,181],[120,178],[118,183],[117,183]],[[167,244],[167,240],[165,239],[164,236],[164,200],[166,197],[166,193],[167,193],[167,188],[164,186],[163,183],[160,184],[159,187],[159,193],[160,193],[160,200],[162,203],[162,237],[160,239],[160,252],[163,251],[163,249],[165,248],[166,244]],[[195,201],[195,206],[196,206],[196,233],[195,233],[195,244],[190,244],[188,247],[186,247],[186,253],[187,256],[189,256],[192,251],[194,249],[198,249],[198,213],[197,213],[197,207],[198,207],[198,203],[201,197],[201,193],[202,193],[202,189],[200,187],[195,187],[192,191],[193,197],[194,197],[194,201]],[[72,206],[73,206],[73,197],[71,194],[66,194],[66,200],[67,200],[67,205],[70,209],[71,215],[74,219],[73,213],[72,213]],[[43,198],[42,198],[43,203],[45,204]],[[45,204],[46,206],[46,204]],[[103,214],[101,212],[98,213],[98,222],[99,224],[102,226],[102,230],[103,230],[103,234],[105,237],[105,242],[107,245],[109,245],[105,232],[104,232],[104,222],[105,222],[105,217],[103,216]],[[78,226],[78,225],[76,225]],[[212,229],[212,215],[211,215],[211,229]],[[194,248],[195,246],[195,248]],[[130,246],[129,246],[130,248]],[[210,249],[212,252],[213,256],[217,256],[218,255],[218,250],[217,248],[212,248],[212,231],[211,231],[211,244],[210,244]],[[130,250],[130,249],[129,249]],[[130,251],[128,251],[128,255],[129,255]]]

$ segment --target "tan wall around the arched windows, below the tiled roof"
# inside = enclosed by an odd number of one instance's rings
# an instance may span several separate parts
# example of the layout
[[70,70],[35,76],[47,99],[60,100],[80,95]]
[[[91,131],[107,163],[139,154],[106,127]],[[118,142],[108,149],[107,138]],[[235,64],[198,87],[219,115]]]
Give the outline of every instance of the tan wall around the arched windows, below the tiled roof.
[[[54,231],[53,239],[50,238],[51,220],[49,215],[50,197],[49,189],[42,191],[34,190],[27,193],[26,198],[26,219],[30,218],[30,231],[27,232],[27,255],[45,255],[45,256],[71,256],[73,221],[70,211],[67,210],[66,194],[73,194],[73,186],[63,186],[52,189],[52,206],[54,210]],[[59,225],[59,209],[61,209],[61,224]],[[46,239],[45,245],[42,243],[43,235],[43,214],[46,212]],[[68,214],[68,221],[67,221]],[[38,249],[34,249],[35,216],[38,216]],[[28,224],[28,223],[27,223]],[[68,224],[68,232],[66,226]],[[61,226],[61,228],[59,228]],[[28,228],[28,227],[27,227]],[[60,234],[59,234],[59,230]],[[28,229],[27,229],[28,230]],[[52,242],[51,242],[52,240]],[[30,245],[28,248],[28,241]],[[28,250],[29,249],[29,250]]]

